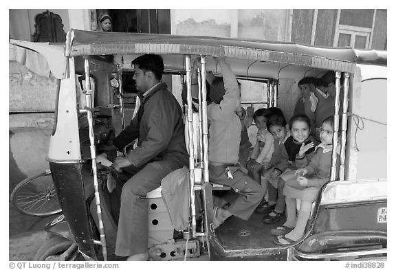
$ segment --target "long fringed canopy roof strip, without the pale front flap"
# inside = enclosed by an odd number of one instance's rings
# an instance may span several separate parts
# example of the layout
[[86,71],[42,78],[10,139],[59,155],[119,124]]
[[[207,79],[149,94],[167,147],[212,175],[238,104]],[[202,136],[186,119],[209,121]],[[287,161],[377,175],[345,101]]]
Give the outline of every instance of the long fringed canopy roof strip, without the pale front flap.
[[[170,34],[109,33],[72,30],[71,56],[93,54],[196,54],[295,63],[324,68],[323,60],[386,65],[386,52],[350,47],[314,47],[298,43],[261,41],[214,36]],[[321,61],[322,60],[322,61]],[[344,65],[342,65],[344,63]],[[333,63],[334,64],[334,63]],[[337,69],[329,67],[329,69]]]

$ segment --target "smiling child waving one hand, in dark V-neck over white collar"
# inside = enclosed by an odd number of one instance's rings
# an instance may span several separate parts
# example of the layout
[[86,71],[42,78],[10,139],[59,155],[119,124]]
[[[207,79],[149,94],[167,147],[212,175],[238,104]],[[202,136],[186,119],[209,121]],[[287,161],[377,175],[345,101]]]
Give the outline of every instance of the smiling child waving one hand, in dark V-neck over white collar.
[[[309,134],[311,125],[307,115],[294,115],[289,122],[291,136],[285,141],[285,148],[282,151],[284,161],[274,167],[274,173],[279,175],[278,194],[283,191],[285,181],[292,177],[292,170],[308,165],[309,160],[314,155],[314,147],[318,142]],[[285,168],[285,159],[289,166]],[[285,213],[285,205],[278,205],[277,210],[273,210],[263,217],[263,223],[272,224],[281,220]]]

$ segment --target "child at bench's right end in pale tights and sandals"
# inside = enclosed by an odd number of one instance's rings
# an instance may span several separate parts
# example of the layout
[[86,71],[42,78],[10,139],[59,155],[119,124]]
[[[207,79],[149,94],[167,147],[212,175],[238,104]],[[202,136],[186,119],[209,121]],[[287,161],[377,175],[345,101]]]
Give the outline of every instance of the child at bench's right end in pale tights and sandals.
[[[322,185],[330,179],[333,126],[333,116],[327,117],[320,128],[321,143],[316,146],[315,155],[309,161],[309,165],[296,170],[294,177],[285,183],[283,193],[286,196],[287,221],[283,226],[285,228],[294,227],[294,229],[290,232],[288,232],[290,229],[286,229],[283,236],[278,236],[274,240],[278,245],[292,245],[303,238],[305,234],[312,203],[316,201]],[[336,150],[339,153],[339,148],[336,148]],[[336,168],[338,168],[338,165],[336,164]],[[296,199],[301,200],[298,216],[296,214]]]

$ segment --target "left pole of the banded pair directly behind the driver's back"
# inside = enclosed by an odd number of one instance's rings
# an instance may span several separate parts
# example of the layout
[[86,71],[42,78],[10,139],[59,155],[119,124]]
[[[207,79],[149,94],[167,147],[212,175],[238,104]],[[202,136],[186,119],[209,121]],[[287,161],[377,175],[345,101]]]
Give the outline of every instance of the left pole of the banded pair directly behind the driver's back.
[[188,150],[190,154],[189,169],[190,169],[190,212],[191,212],[191,231],[192,237],[197,234],[197,221],[195,219],[195,174],[194,174],[194,133],[192,123],[192,94],[191,94],[191,58],[186,56],[186,83],[187,83],[187,131],[188,131]]

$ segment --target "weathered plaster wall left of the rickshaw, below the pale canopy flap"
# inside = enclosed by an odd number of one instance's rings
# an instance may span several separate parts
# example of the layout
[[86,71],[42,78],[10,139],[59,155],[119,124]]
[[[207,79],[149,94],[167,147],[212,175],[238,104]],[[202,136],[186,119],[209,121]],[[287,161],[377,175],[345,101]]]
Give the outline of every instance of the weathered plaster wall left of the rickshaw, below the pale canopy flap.
[[[37,76],[9,62],[9,191],[26,177],[49,168],[47,157],[54,125],[56,80]],[[22,113],[21,113],[22,112]],[[28,113],[29,112],[29,113]],[[34,112],[34,113],[31,113]]]

